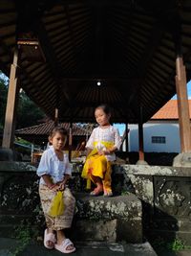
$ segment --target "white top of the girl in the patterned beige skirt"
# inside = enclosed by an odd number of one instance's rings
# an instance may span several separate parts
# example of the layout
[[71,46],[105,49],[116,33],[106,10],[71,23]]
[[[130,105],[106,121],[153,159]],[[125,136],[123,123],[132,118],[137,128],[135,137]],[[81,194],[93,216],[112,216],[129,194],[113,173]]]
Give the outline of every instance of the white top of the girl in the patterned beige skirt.
[[[72,167],[69,163],[68,154],[63,152],[63,161],[60,161],[51,146],[44,151],[37,168],[37,175],[50,175],[53,178],[53,183],[62,181],[64,175],[71,175]],[[46,184],[43,177],[40,178],[40,184]]]

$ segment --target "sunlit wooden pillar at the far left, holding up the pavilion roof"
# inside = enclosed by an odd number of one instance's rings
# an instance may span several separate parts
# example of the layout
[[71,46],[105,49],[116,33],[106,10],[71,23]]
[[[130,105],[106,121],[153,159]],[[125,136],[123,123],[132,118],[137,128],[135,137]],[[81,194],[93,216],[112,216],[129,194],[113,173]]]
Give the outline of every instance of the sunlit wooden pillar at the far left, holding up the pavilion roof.
[[6,107],[5,127],[2,148],[12,149],[15,130],[15,112],[18,103],[19,84],[16,76],[18,65],[18,50],[14,50],[13,63],[11,64],[10,83]]

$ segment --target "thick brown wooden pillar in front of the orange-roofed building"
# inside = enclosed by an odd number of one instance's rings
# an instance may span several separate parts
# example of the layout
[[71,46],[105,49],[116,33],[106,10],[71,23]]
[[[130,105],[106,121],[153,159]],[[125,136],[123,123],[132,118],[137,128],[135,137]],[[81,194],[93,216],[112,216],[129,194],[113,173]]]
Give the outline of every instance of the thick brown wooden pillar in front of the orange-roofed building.
[[176,73],[176,89],[180,123],[180,148],[181,152],[188,152],[191,151],[190,115],[187,96],[186,71],[181,56],[178,56],[176,59]]

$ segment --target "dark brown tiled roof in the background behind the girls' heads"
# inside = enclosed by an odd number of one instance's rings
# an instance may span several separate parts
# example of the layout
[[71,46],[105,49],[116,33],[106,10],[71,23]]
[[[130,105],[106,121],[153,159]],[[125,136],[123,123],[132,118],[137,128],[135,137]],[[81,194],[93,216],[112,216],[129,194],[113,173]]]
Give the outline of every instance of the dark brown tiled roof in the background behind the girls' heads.
[[[61,123],[61,127],[66,128],[69,133],[70,123]],[[19,128],[15,130],[15,135],[49,135],[54,127],[53,121],[49,121],[38,126],[33,126],[30,128]],[[73,124],[73,135],[74,136],[85,136],[90,135],[91,131],[85,128],[81,128],[76,124]]]

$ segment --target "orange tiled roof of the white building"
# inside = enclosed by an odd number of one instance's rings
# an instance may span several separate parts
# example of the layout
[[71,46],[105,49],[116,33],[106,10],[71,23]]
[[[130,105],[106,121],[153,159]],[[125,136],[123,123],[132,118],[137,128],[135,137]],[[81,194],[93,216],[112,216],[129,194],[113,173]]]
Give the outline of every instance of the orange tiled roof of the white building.
[[[191,100],[188,100],[189,103],[189,113],[191,118]],[[178,114],[178,101],[170,100],[167,104],[163,105],[159,111],[152,116],[151,120],[168,120],[168,119],[179,119]]]

